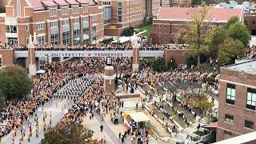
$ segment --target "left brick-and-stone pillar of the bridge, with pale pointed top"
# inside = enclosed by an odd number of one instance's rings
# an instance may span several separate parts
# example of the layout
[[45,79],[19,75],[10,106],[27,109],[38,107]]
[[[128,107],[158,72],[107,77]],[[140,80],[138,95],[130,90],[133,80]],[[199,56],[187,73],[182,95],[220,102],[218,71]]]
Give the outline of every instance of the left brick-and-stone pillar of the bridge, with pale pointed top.
[[[34,38],[36,42],[36,38]],[[34,49],[34,44],[32,42],[32,37],[30,34],[30,42],[29,42],[29,46],[28,46],[28,53],[29,53],[29,74],[31,76],[35,75],[37,72],[37,66],[36,66],[36,61],[35,61],[35,49]]]

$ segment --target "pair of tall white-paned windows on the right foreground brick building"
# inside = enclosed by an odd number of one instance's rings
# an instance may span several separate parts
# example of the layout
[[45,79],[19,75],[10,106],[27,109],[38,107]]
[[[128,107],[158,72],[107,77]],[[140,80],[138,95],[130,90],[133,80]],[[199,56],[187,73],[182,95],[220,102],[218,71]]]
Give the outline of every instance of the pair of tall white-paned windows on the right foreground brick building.
[[[227,84],[226,86],[226,103],[234,105],[235,102],[235,85]],[[256,108],[256,90],[247,89],[246,108],[255,110]]]

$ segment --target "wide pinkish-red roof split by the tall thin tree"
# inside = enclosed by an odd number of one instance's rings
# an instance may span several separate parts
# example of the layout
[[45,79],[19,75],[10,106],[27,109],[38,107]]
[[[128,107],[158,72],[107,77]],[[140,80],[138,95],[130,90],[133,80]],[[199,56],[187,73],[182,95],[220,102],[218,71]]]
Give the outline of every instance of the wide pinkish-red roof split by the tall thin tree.
[[[161,7],[157,19],[190,21],[193,18],[193,15],[199,13],[200,10],[201,8]],[[242,10],[210,7],[208,12],[208,17],[211,22],[227,22],[232,16],[237,16],[241,19]]]

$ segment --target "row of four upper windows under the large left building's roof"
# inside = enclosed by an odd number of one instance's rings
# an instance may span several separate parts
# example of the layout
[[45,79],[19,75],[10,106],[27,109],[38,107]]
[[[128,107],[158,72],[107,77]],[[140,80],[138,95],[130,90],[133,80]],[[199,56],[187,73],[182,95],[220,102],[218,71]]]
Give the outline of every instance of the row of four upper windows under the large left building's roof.
[[[73,6],[72,7],[72,13],[78,14],[79,13],[79,6]],[[88,13],[88,6],[83,5],[82,6],[82,13]],[[69,14],[69,8],[63,7],[62,8],[62,15],[68,15]],[[57,16],[57,8],[51,8],[50,9],[50,17],[56,17]]]

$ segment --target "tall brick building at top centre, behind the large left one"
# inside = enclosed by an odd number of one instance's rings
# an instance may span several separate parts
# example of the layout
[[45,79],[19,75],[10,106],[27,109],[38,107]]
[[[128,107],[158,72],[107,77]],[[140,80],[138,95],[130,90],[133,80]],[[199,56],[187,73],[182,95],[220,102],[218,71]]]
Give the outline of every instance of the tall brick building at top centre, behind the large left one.
[[160,0],[98,1],[103,6],[105,35],[122,35],[129,27],[138,27],[145,16],[157,15]]

